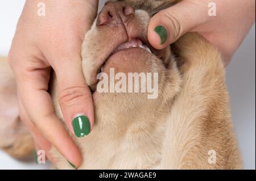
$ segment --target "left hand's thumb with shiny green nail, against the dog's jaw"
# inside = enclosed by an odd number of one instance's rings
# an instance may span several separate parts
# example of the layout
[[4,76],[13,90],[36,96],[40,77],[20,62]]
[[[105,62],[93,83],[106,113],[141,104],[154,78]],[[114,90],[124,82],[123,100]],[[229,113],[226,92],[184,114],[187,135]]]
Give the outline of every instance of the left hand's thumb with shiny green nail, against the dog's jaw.
[[58,98],[65,123],[76,137],[88,135],[94,124],[92,92],[85,83],[79,54],[53,65],[57,77]]

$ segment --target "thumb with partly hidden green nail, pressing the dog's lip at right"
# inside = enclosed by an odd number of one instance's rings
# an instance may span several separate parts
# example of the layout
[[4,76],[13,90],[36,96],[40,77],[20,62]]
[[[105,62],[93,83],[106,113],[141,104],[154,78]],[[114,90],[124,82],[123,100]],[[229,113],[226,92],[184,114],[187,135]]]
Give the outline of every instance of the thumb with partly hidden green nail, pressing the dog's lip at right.
[[158,12],[150,20],[148,41],[156,49],[174,43],[184,33],[208,19],[208,4],[204,1],[181,1]]

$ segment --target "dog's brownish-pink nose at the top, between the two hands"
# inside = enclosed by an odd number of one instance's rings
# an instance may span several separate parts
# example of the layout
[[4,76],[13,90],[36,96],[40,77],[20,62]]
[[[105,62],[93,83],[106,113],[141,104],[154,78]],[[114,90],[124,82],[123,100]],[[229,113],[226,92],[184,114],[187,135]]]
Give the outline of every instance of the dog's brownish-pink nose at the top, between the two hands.
[[125,2],[108,3],[98,15],[97,26],[119,26],[128,22],[134,12],[133,7]]

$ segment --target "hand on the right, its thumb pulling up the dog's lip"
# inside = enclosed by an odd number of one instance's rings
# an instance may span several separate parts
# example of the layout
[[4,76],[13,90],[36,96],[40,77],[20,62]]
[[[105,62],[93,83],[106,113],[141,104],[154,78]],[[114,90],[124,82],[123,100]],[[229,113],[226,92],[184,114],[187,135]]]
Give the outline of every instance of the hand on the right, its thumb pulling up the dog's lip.
[[228,65],[255,22],[255,1],[215,0],[217,16],[209,16],[208,5],[212,2],[183,0],[158,12],[148,27],[150,44],[163,49],[187,32],[199,32],[218,48]]

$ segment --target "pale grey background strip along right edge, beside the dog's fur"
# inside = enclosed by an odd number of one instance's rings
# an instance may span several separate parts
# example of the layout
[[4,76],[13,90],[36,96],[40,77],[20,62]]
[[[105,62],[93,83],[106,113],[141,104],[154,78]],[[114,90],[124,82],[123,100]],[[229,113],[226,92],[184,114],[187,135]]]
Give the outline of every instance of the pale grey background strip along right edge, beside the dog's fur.
[[255,25],[226,73],[232,119],[245,169],[255,169]]

